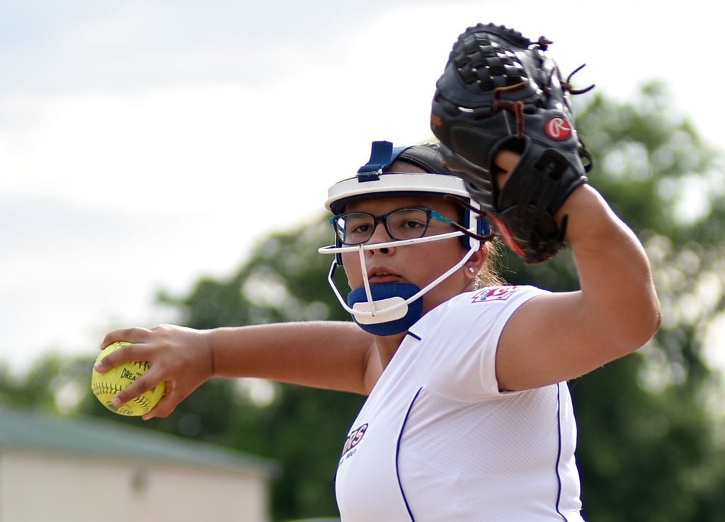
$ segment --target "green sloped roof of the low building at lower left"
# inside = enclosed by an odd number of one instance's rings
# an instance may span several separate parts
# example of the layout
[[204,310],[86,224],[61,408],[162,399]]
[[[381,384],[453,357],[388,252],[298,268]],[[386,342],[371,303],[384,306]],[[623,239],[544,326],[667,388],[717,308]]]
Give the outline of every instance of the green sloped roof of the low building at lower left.
[[235,473],[257,473],[270,478],[279,471],[274,460],[152,429],[96,418],[50,416],[0,408],[0,453],[7,450],[134,458]]

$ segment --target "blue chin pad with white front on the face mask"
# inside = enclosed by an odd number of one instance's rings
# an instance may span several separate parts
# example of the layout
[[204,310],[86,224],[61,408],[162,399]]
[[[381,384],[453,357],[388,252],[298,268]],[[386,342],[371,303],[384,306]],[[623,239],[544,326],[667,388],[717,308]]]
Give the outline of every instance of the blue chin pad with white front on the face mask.
[[[397,301],[406,300],[413,297],[421,289],[410,283],[379,283],[370,285],[370,295],[373,297],[373,303],[380,306],[381,313],[376,316],[359,315],[352,313],[352,319],[365,330],[373,335],[394,335],[405,332],[415,324],[415,321],[421,319],[423,315],[423,298],[418,298],[407,306],[401,306],[394,311],[386,312],[394,306]],[[368,295],[365,294],[365,287],[356,288],[347,295],[347,305],[355,308],[360,303],[365,308],[368,305]]]

